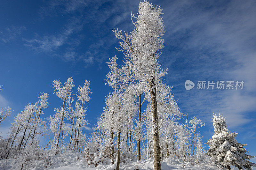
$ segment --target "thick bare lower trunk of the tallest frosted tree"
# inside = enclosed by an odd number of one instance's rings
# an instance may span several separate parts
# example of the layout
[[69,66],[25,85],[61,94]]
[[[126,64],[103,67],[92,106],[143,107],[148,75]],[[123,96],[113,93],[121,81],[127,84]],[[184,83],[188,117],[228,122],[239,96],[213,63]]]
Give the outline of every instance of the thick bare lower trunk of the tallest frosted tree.
[[159,133],[158,133],[158,116],[157,116],[157,99],[156,99],[156,82],[154,78],[151,78],[148,82],[149,82],[151,107],[152,107],[154,170],[161,170],[161,155],[160,155],[160,144],[159,144]]

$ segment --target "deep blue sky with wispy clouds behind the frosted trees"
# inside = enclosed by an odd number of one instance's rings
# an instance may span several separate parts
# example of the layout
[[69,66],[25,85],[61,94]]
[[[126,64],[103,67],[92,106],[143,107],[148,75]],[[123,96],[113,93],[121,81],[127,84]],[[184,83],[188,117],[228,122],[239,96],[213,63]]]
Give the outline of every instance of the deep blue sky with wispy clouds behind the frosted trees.
[[[104,84],[108,57],[118,40],[111,31],[132,31],[131,11],[140,1],[1,1],[0,2],[0,107],[16,115],[37,94],[48,92],[44,118],[61,101],[50,83],[73,76],[77,85],[91,81],[88,127],[93,127],[111,90]],[[150,1],[162,6],[166,28],[160,62],[169,68],[164,82],[188,117],[205,122],[203,142],[213,135],[212,112],[220,110],[239,143],[256,155],[256,2],[255,1]],[[120,62],[121,64],[121,62]],[[185,81],[244,81],[242,90],[187,91]],[[74,90],[75,91],[75,90]],[[12,118],[0,128],[7,132]],[[89,128],[86,133],[90,133]],[[256,162],[256,159],[253,159]]]

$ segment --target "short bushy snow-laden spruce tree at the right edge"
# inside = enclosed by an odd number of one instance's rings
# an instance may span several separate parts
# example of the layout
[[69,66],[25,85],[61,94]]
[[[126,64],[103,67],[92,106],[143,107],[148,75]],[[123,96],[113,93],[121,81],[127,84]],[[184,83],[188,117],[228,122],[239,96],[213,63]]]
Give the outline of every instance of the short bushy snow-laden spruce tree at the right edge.
[[222,114],[216,116],[213,114],[214,135],[206,142],[209,145],[207,154],[210,159],[227,169],[230,166],[236,166],[238,169],[251,169],[256,164],[247,159],[254,158],[254,156],[245,154],[244,146],[246,144],[239,144],[235,137],[236,132],[231,133],[226,127],[225,117]]

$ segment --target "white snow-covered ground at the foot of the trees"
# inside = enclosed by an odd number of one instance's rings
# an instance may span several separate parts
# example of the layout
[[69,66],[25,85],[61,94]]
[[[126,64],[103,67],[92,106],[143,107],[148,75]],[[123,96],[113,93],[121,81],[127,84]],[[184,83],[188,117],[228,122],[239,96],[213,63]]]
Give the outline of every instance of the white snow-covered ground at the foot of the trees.
[[[55,156],[52,159],[52,165],[50,167],[45,168],[42,161],[37,163],[37,166],[34,168],[29,168],[31,170],[50,170],[50,169],[61,169],[61,170],[111,170],[111,167],[106,163],[100,163],[97,167],[94,165],[89,166],[86,160],[83,158],[83,153],[65,153],[60,156]],[[183,162],[178,158],[167,158],[161,162],[161,167],[163,170],[218,170],[219,168],[215,166],[208,165],[192,165],[192,162]],[[136,162],[128,161],[127,163],[120,163],[120,169],[122,170],[134,170],[137,166]],[[142,160],[138,164],[138,169],[140,170],[152,170],[153,169],[153,159]],[[19,165],[15,163],[15,160],[7,159],[0,160],[0,169],[4,170],[19,170]]]

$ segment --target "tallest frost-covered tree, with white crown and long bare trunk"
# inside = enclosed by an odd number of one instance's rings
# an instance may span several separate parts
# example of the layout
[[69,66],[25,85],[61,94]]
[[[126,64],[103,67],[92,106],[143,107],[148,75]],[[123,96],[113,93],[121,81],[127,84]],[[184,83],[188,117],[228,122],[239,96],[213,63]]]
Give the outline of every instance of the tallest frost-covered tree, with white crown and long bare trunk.
[[162,14],[163,10],[160,7],[144,1],[139,4],[138,17],[133,22],[135,29],[129,35],[127,32],[123,35],[122,31],[118,29],[113,30],[116,38],[121,40],[119,42],[121,48],[118,50],[125,55],[135,79],[148,84],[151,95],[155,170],[161,169],[156,87],[161,77],[166,75],[166,70],[162,70],[161,64],[158,62],[160,50],[164,48],[162,37],[165,31]]

